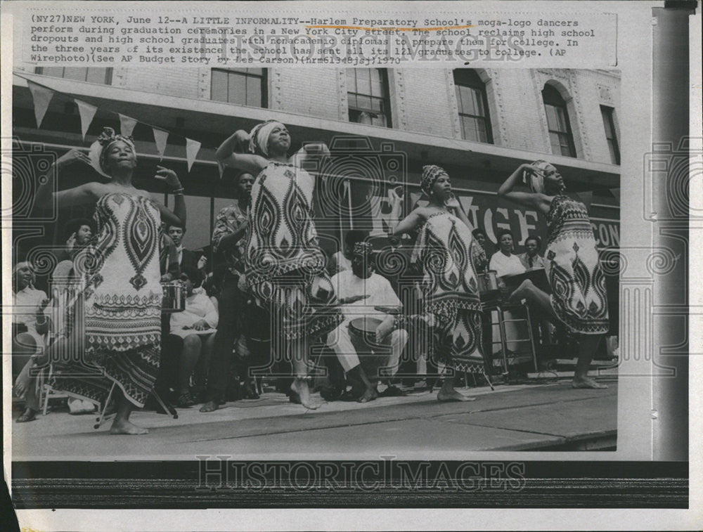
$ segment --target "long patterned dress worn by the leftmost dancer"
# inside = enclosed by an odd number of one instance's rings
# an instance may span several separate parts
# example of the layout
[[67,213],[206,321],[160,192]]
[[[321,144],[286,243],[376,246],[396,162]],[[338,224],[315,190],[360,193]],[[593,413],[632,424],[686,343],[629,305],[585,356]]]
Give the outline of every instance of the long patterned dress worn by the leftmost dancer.
[[[70,360],[75,377],[56,385],[105,401],[112,383],[143,406],[160,363],[161,216],[146,197],[108,193],[94,214],[97,231],[74,268],[81,290],[68,313],[67,332],[82,361]],[[89,377],[96,369],[100,377]],[[79,371],[79,373],[76,373]]]

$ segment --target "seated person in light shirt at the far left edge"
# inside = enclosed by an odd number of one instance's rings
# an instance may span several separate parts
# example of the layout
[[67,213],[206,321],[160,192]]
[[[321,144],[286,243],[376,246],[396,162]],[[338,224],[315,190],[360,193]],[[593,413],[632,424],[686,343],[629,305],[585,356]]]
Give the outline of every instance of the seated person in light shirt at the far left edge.
[[44,350],[49,332],[46,292],[34,288],[34,269],[28,262],[19,262],[12,273],[12,372],[15,394],[25,399],[25,410],[18,423],[32,421],[39,412],[37,381],[31,374],[35,359]]

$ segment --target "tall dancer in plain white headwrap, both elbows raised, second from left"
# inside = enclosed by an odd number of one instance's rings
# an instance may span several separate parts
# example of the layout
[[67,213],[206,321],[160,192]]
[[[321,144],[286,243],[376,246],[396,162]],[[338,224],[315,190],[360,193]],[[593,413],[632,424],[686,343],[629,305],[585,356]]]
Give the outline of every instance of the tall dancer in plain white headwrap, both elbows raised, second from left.
[[295,372],[291,390],[303,406],[315,409],[319,405],[310,398],[309,342],[333,330],[343,317],[312,219],[314,177],[302,163],[329,152],[324,144],[313,144],[288,157],[289,148],[288,130],[269,120],[250,134],[237,131],[219,147],[217,159],[257,176],[247,228],[247,287],[259,306],[271,309],[278,351],[287,351],[276,355],[288,354]]

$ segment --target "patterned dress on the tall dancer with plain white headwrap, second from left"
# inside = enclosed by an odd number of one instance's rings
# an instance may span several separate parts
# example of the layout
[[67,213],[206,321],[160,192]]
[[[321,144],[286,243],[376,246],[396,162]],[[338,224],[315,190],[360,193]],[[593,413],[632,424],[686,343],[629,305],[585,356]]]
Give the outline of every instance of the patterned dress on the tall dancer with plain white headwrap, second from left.
[[270,162],[252,186],[247,287],[287,339],[325,335],[343,320],[318,245],[314,187],[307,171],[280,162]]

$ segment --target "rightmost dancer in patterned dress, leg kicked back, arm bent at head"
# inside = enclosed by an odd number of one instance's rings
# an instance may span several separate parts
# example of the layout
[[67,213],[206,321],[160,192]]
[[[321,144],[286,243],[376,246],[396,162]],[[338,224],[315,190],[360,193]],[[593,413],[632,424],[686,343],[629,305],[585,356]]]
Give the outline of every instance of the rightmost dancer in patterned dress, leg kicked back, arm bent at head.
[[[531,192],[513,190],[521,179]],[[511,297],[529,299],[579,335],[574,388],[607,388],[588,377],[598,343],[608,331],[605,275],[586,206],[565,190],[559,171],[546,161],[521,164],[498,190],[501,197],[537,209],[548,223],[544,266],[552,294],[525,280]]]

